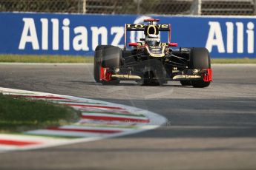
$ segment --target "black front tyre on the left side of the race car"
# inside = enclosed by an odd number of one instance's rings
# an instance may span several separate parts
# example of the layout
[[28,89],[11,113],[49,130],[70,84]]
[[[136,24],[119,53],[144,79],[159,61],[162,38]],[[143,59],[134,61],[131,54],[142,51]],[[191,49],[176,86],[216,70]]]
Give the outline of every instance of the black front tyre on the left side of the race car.
[[[122,60],[122,50],[119,47],[106,46],[102,51],[102,67],[108,68],[114,71],[116,67],[119,67]],[[102,81],[105,85],[117,85],[119,80],[111,78],[109,81]]]

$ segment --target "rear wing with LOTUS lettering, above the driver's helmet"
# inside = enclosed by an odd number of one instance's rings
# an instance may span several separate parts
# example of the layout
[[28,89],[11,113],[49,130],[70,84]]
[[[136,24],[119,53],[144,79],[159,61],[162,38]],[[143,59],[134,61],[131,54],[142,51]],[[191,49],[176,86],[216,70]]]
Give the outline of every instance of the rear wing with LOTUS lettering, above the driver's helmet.
[[[145,20],[145,21],[149,21]],[[159,21],[157,19],[154,19],[154,21]],[[127,41],[126,41],[126,36],[127,36],[127,31],[144,31],[145,27],[154,25],[155,27],[158,28],[159,31],[168,31],[168,43],[171,43],[171,24],[153,24],[153,20],[151,21],[151,24],[125,24],[125,47],[124,50],[126,49]]]

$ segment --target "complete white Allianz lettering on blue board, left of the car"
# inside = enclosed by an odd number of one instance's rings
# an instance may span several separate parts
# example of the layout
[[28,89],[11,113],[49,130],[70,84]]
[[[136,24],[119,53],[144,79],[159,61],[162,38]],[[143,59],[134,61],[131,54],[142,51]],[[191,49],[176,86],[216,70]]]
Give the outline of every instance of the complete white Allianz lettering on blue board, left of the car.
[[[36,25],[34,18],[23,18],[22,20],[24,27],[19,41],[19,50],[25,50],[26,45],[31,44],[33,50],[89,51],[94,50],[98,44],[108,44],[106,27],[90,27],[88,30],[85,26],[78,26],[70,29],[68,18],[63,19],[62,22],[58,18],[41,18],[41,25]],[[39,27],[42,29],[40,34],[38,32]],[[49,30],[52,33],[49,33]],[[88,31],[90,31],[91,40],[88,40]],[[42,41],[39,41],[38,35],[42,35]],[[111,40],[109,40],[111,45],[122,47],[120,43],[123,35],[124,27],[111,27]],[[62,36],[62,44],[59,41],[60,36]],[[51,41],[51,47],[49,47],[49,41]]]

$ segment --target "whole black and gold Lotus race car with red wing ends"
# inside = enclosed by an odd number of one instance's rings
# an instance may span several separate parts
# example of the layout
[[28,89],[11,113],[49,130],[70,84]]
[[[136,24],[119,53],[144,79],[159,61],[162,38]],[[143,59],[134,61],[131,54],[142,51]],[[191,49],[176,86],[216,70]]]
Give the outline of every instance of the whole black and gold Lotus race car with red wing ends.
[[[142,85],[161,85],[180,81],[183,86],[206,87],[212,81],[211,60],[206,48],[179,48],[171,43],[171,24],[154,24],[159,19],[145,19],[149,24],[125,24],[124,49],[99,45],[94,55],[96,82],[116,85],[119,81],[137,81]],[[127,31],[143,31],[145,38],[131,42],[127,49]],[[160,31],[168,32],[168,42],[161,42]]]

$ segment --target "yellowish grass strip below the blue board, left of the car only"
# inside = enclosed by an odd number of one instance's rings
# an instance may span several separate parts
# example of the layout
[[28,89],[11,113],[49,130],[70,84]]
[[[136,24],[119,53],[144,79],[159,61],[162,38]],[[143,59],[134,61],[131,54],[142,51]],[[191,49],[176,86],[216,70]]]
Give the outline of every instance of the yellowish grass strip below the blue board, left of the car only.
[[0,55],[0,62],[10,62],[10,63],[93,63],[93,57],[70,56],[70,55]]

